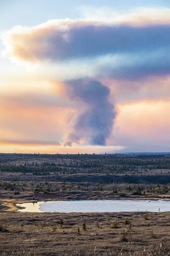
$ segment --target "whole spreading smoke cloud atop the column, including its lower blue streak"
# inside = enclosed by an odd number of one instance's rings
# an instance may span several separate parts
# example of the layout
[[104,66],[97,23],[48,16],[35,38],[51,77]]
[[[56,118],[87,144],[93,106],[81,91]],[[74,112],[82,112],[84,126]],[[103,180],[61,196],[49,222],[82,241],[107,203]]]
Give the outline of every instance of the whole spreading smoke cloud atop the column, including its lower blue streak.
[[66,67],[77,61],[80,67],[71,70],[74,79],[77,73],[77,78],[136,80],[169,74],[169,30],[170,9],[141,9],[101,20],[49,20],[6,32],[4,54],[20,61],[56,63],[56,73],[63,70],[66,77]]

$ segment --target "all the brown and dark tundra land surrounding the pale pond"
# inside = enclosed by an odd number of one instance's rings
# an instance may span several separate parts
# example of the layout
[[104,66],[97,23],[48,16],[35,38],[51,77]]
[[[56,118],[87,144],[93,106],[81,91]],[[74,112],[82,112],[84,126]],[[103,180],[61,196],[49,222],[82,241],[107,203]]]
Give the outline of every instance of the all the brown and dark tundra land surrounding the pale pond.
[[15,204],[170,199],[169,169],[169,155],[0,154],[0,253],[168,255],[170,212],[36,214],[15,212]]

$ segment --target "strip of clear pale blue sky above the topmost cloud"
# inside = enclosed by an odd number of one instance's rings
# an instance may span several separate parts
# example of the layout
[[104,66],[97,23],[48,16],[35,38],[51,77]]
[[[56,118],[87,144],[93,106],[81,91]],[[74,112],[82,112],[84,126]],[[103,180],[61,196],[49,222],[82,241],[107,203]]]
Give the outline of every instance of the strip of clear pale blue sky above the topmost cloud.
[[33,26],[48,19],[77,18],[79,6],[127,11],[136,7],[170,7],[169,0],[0,0],[0,30]]

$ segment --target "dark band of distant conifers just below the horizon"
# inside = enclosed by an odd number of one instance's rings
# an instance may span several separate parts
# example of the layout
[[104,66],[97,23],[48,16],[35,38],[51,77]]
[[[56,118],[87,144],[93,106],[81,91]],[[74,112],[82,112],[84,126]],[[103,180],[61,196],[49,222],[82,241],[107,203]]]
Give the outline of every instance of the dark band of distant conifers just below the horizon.
[[[43,157],[42,157],[43,156]],[[29,157],[33,161],[29,160]],[[155,169],[169,170],[170,157],[165,155],[29,155],[23,163],[10,163],[10,157],[0,157],[0,172],[23,172],[35,175],[48,175],[50,172],[59,174],[103,173],[133,174]],[[35,159],[35,160],[34,160]],[[21,161],[20,161],[21,162]]]

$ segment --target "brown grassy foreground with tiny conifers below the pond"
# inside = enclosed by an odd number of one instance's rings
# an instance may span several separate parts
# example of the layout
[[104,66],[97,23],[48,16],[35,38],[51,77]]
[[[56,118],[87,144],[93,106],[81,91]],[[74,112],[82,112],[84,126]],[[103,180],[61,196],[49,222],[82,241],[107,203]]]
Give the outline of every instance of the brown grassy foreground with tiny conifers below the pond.
[[4,211],[0,212],[0,255],[163,256],[169,255],[169,227],[169,212]]

